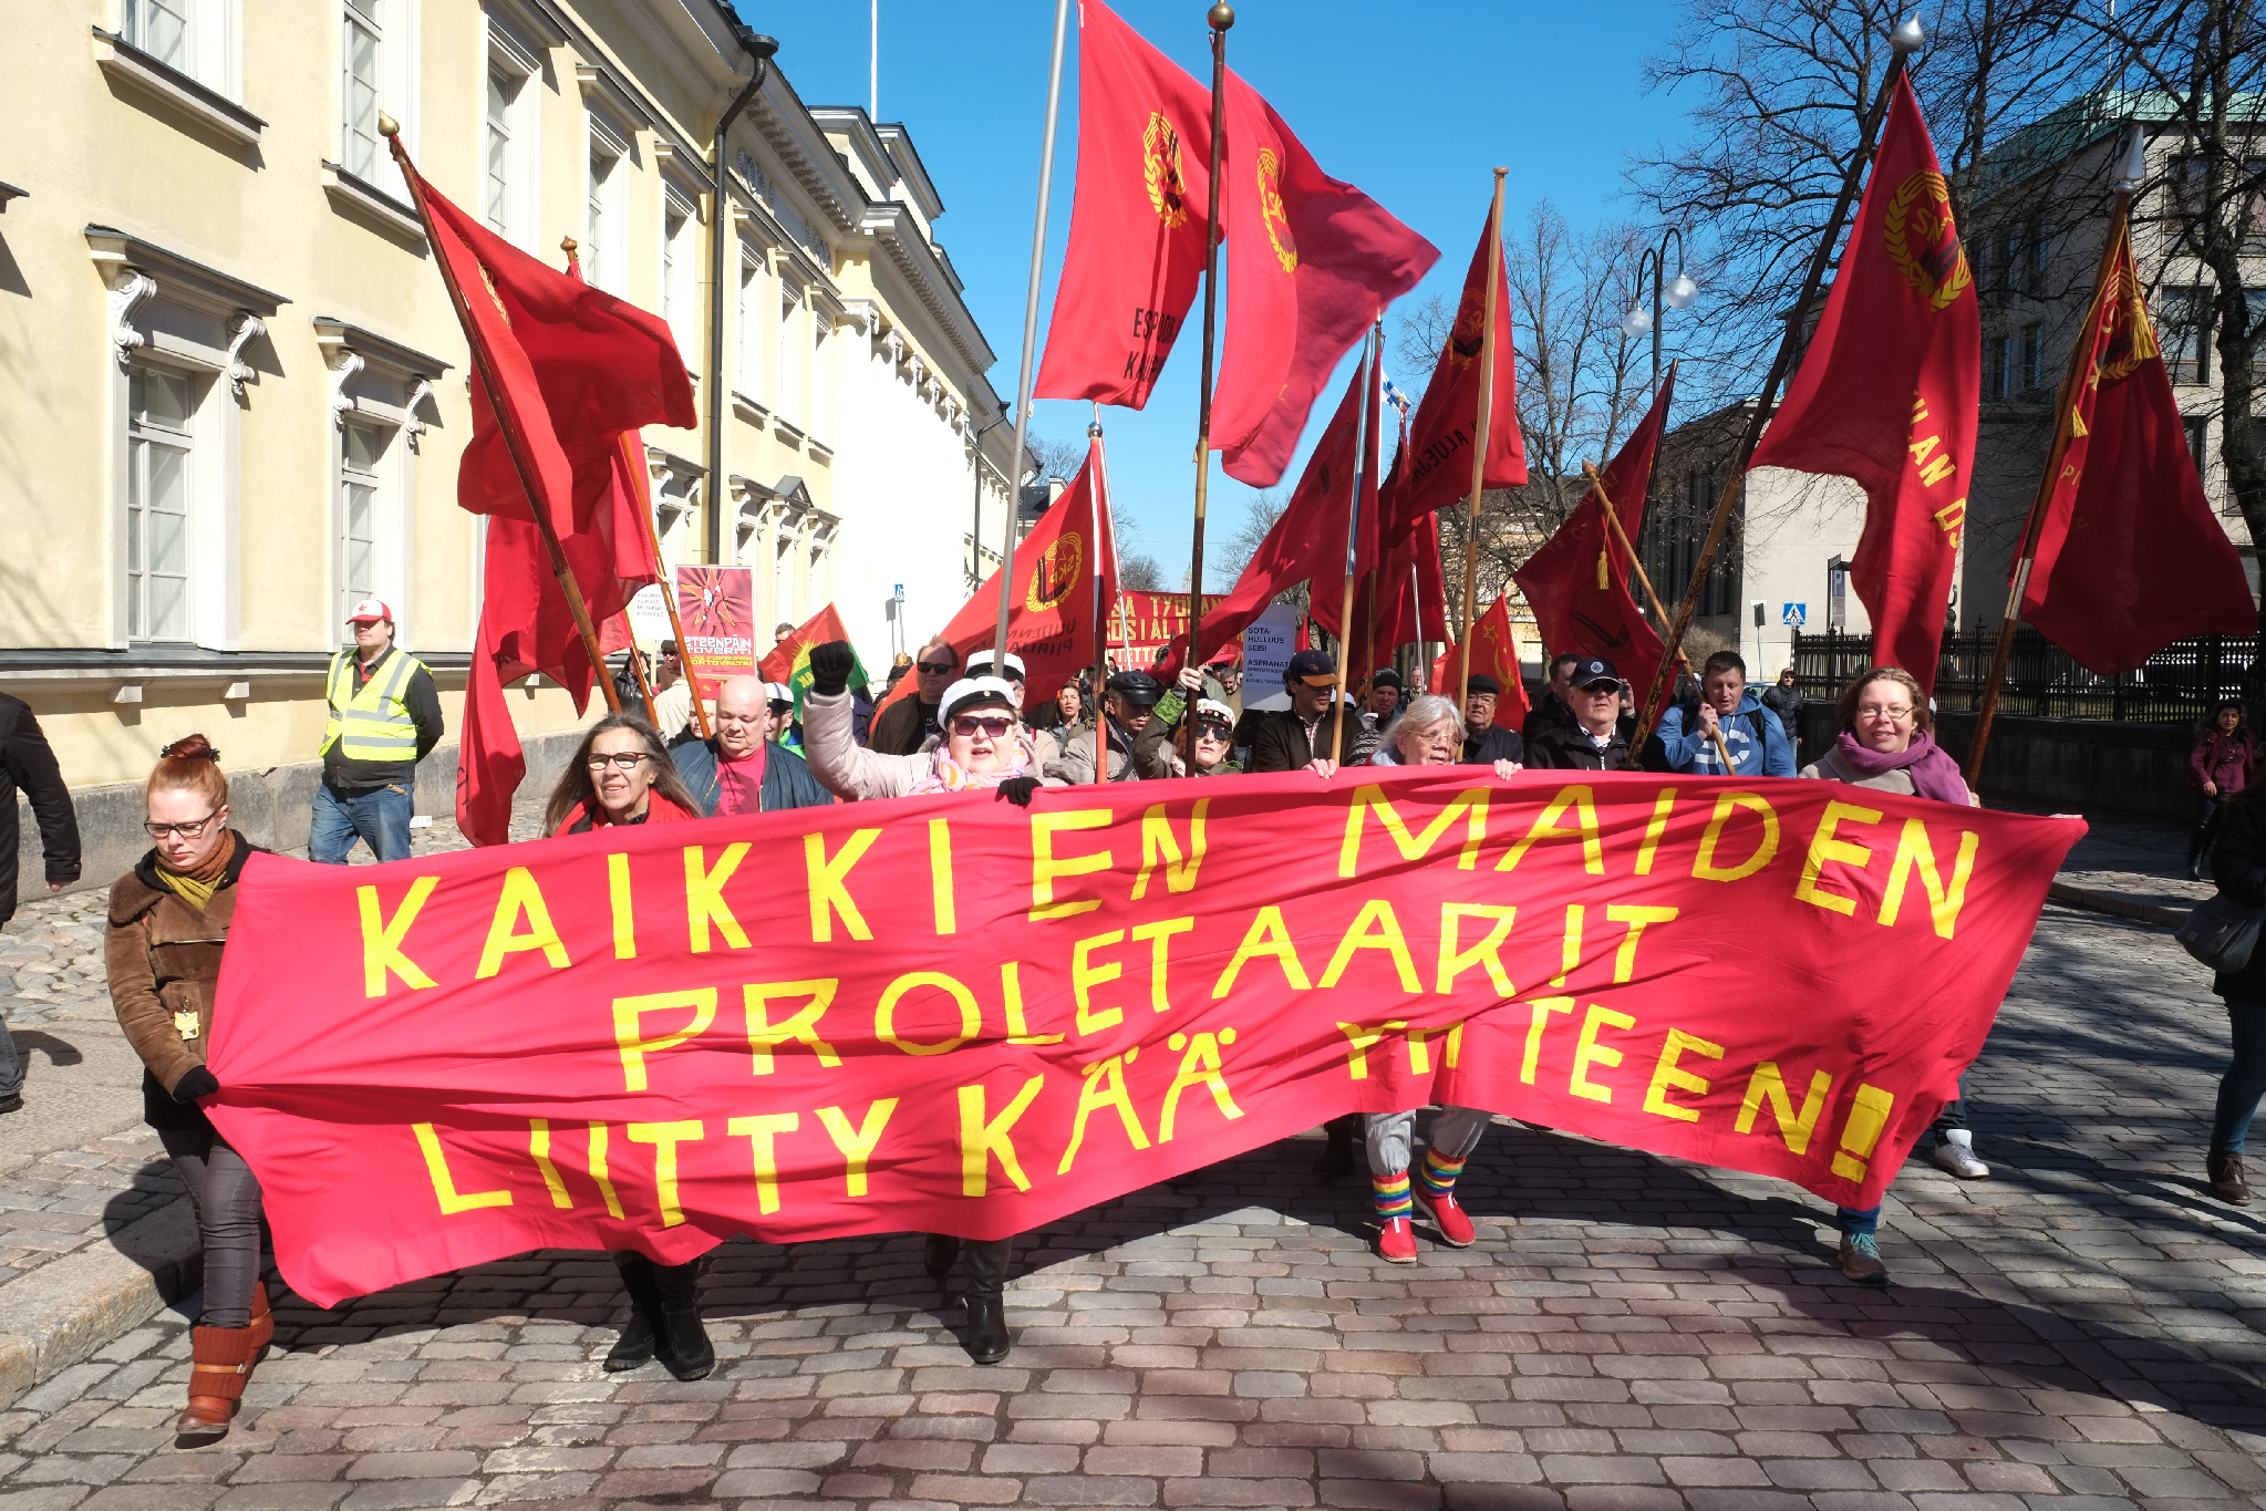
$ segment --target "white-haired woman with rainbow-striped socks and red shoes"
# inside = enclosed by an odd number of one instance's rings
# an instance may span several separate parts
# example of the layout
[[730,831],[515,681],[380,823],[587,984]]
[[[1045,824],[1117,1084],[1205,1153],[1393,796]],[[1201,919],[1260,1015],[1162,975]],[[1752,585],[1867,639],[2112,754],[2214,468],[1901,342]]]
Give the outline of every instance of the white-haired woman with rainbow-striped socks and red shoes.
[[[1455,702],[1428,693],[1414,700],[1400,723],[1385,736],[1385,745],[1369,757],[1371,766],[1457,766],[1464,754],[1464,716]],[[1520,766],[1516,761],[1493,761],[1496,777],[1509,782]],[[1455,1201],[1455,1180],[1464,1173],[1471,1151],[1480,1146],[1491,1112],[1480,1108],[1443,1105],[1432,1119],[1432,1130],[1423,1151],[1423,1169],[1409,1178],[1416,1153],[1416,1110],[1371,1112],[1369,1133],[1369,1187],[1378,1203],[1378,1257],[1391,1264],[1416,1262],[1416,1207],[1421,1205],[1439,1228],[1439,1237],[1455,1248],[1473,1244],[1480,1235],[1471,1217]]]

